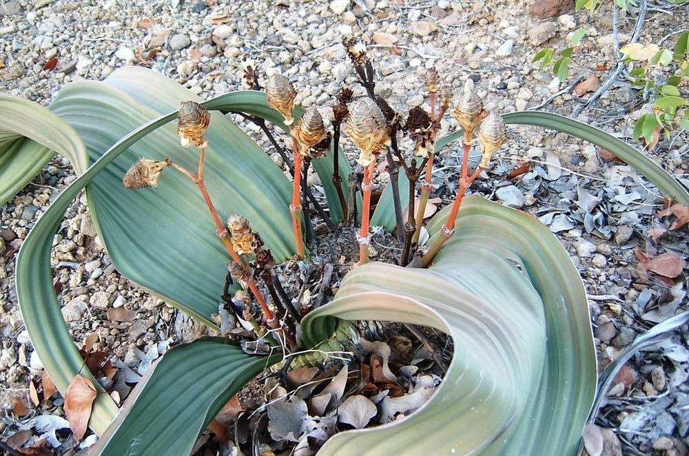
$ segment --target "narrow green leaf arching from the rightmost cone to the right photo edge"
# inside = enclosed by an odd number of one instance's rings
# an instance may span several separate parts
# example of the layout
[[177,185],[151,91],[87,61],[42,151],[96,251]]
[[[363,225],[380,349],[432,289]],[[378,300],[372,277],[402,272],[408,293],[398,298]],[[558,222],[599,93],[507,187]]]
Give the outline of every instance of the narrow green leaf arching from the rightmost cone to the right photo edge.
[[677,179],[670,176],[664,169],[634,147],[600,129],[550,112],[511,112],[504,114],[502,118],[508,124],[534,125],[554,129],[606,149],[636,169],[639,174],[650,180],[672,200],[683,205],[689,205],[689,193],[677,182]]

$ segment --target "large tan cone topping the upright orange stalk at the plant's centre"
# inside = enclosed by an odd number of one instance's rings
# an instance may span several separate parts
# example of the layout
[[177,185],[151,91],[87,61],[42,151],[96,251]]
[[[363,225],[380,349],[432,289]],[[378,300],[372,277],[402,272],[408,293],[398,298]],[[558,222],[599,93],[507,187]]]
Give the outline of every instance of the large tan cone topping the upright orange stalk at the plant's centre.
[[390,143],[385,117],[380,107],[371,99],[354,103],[349,110],[345,133],[359,148],[361,154],[357,161],[362,166],[373,163],[376,154]]

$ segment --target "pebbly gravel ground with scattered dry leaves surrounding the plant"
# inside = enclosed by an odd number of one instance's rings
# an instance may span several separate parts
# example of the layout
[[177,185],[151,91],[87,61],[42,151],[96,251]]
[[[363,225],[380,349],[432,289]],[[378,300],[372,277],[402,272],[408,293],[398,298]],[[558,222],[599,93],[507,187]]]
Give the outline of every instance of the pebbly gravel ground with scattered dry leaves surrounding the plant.
[[[298,89],[297,101],[321,107],[328,117],[333,95],[343,81],[353,81],[340,44],[342,37],[353,34],[369,45],[378,69],[376,91],[400,112],[424,103],[418,93],[426,68],[436,65],[444,84],[455,93],[467,78],[474,79],[489,109],[511,112],[544,105],[544,110],[569,115],[590,96],[573,94],[577,78],[595,74],[602,81],[606,72],[594,69],[615,63],[611,7],[604,5],[593,17],[570,12],[537,19],[528,13],[530,3],[8,1],[0,5],[0,90],[48,105],[71,81],[99,80],[121,66],[144,65],[209,98],[243,88],[242,65],[248,59],[262,74],[289,76]],[[648,3],[639,42],[670,47],[688,28],[686,13],[686,6]],[[621,14],[621,43],[629,39],[635,20],[634,10]],[[586,28],[587,37],[567,81],[559,83],[531,63],[544,46],[566,47],[578,27]],[[644,103],[623,77],[578,119],[630,138],[635,119],[648,110]],[[445,121],[443,127],[452,129],[454,121]],[[672,132],[649,154],[670,174],[685,179],[686,137],[686,132]],[[442,158],[434,196],[448,198],[456,185],[452,173],[458,163],[456,150]],[[528,172],[509,178],[519,165],[528,165]],[[579,267],[590,295],[601,369],[655,324],[657,317],[654,320],[650,313],[654,307],[674,299],[672,312],[687,308],[686,269],[674,278],[646,274],[654,256],[666,253],[686,260],[686,227],[653,236],[674,219],[658,215],[663,201],[630,167],[563,134],[514,127],[490,175],[475,191],[539,217],[557,233]],[[59,190],[74,178],[68,161],[56,157],[0,206],[3,439],[19,424],[12,416],[12,398],[28,397],[30,382],[39,382],[41,369],[17,308],[17,249]],[[54,246],[55,284],[78,344],[97,334],[94,351],[107,351],[120,365],[141,373],[170,344],[203,334],[203,327],[193,320],[119,276],[95,236],[85,196],[68,210]],[[133,311],[136,319],[110,321],[108,309]],[[608,454],[619,454],[620,448],[625,454],[687,453],[687,342],[685,325],[672,338],[635,355],[623,369],[611,393],[615,397],[596,421],[605,429]],[[126,394],[124,384],[121,394]],[[61,405],[54,396],[32,407],[30,416],[62,415]],[[67,445],[63,448],[69,447],[67,438],[61,436]]]

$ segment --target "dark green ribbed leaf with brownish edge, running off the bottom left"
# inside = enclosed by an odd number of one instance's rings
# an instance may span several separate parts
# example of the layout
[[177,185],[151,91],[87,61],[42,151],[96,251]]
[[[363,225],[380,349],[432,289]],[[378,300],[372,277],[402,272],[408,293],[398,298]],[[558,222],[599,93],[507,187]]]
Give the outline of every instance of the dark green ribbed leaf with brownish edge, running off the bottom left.
[[190,454],[232,395],[278,360],[249,356],[223,338],[170,349],[136,384],[92,454]]

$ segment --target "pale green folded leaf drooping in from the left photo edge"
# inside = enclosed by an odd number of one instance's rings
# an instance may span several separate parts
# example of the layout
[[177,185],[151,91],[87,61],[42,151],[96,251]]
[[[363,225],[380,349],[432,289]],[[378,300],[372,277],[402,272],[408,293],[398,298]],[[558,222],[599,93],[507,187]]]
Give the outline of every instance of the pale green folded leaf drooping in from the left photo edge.
[[0,94],[0,205],[17,194],[57,152],[76,172],[86,168],[79,135],[47,108]]

